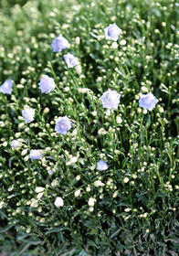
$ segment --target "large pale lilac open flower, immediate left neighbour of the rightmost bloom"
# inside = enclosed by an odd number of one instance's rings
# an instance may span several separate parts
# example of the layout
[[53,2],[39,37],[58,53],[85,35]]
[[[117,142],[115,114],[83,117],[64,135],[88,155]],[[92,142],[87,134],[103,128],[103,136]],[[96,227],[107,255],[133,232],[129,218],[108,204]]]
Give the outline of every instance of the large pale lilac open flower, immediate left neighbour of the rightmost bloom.
[[106,109],[117,109],[120,103],[121,95],[117,91],[105,91],[100,97],[103,108]]

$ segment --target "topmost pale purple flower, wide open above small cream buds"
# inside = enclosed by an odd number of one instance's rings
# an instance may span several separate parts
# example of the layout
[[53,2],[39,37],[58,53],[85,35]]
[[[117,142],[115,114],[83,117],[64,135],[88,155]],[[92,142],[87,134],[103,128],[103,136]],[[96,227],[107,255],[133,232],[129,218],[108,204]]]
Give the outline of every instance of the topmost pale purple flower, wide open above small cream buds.
[[121,28],[113,23],[104,28],[104,34],[107,40],[117,41],[121,34]]

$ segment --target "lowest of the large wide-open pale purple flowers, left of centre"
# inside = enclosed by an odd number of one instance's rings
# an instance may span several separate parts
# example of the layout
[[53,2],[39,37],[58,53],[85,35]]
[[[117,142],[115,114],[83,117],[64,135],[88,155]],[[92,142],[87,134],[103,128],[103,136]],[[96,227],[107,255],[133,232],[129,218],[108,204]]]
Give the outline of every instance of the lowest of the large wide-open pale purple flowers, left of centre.
[[57,133],[66,134],[68,130],[71,128],[71,122],[67,116],[59,116],[56,120],[55,131]]

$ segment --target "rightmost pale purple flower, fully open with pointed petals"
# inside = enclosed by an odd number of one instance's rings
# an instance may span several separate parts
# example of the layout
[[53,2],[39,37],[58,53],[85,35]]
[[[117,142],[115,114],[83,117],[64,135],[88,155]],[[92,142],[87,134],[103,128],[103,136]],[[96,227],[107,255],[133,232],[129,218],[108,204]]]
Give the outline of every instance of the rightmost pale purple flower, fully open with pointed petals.
[[158,100],[153,96],[152,92],[141,94],[140,97],[139,106],[149,111],[152,111],[155,104],[158,102]]

